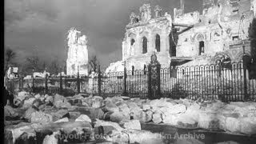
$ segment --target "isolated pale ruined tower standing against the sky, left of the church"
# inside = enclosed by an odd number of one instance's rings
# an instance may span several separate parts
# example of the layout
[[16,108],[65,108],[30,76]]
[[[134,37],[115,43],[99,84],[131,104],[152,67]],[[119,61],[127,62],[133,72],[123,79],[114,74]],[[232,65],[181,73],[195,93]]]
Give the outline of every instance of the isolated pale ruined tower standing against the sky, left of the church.
[[74,28],[69,30],[68,34],[68,54],[66,60],[67,75],[88,75],[88,39],[86,35],[81,36],[81,31]]

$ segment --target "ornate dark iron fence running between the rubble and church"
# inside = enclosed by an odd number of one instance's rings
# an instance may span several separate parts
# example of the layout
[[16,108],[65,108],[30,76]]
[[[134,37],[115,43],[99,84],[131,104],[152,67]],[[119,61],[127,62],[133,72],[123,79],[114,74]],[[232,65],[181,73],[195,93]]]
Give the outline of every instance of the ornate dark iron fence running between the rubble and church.
[[[8,83],[12,87],[10,90],[16,93],[18,90],[30,88],[36,91],[35,88],[43,87],[45,93],[51,94],[62,94],[63,90],[71,89],[76,93],[102,96],[122,94],[132,98],[202,98],[222,101],[256,99],[256,80],[249,78],[249,72],[242,62],[232,63],[229,67],[177,66],[172,69],[160,68],[160,65],[151,62],[148,67],[149,70],[127,71],[125,68],[122,72],[99,73],[93,78],[79,74],[76,77],[21,77],[9,80]],[[156,91],[158,88],[159,93]]]

